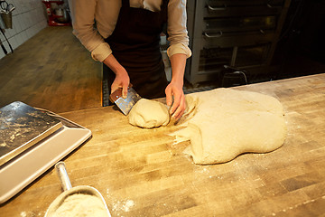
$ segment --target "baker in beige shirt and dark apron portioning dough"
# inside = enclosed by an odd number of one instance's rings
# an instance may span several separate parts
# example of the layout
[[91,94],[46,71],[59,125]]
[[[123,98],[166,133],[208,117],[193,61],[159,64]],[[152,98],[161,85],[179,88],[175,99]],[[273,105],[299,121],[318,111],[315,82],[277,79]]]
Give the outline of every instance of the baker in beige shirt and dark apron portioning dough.
[[[122,88],[125,96],[131,82],[143,98],[166,97],[172,118],[181,118],[186,107],[185,63],[191,55],[186,0],[70,0],[70,10],[73,33],[94,60],[104,63],[110,92]],[[170,83],[159,43],[164,24],[170,42]]]

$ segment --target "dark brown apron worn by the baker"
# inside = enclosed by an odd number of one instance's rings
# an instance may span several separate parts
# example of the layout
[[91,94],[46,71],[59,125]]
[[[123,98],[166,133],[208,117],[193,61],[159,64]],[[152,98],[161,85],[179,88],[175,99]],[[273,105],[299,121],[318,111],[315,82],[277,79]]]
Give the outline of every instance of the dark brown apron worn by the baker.
[[[125,67],[137,93],[146,99],[165,97],[168,85],[160,52],[160,34],[167,21],[168,1],[163,0],[160,12],[130,7],[129,0],[122,0],[114,32],[105,40],[116,60]],[[105,64],[108,88],[115,73]]]

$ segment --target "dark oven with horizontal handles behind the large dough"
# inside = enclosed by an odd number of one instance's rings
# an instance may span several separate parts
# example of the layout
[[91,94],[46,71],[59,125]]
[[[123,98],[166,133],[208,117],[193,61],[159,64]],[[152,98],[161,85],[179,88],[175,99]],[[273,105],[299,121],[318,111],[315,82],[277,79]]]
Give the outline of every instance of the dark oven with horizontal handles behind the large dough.
[[225,66],[268,73],[290,0],[188,0],[192,84],[222,80]]

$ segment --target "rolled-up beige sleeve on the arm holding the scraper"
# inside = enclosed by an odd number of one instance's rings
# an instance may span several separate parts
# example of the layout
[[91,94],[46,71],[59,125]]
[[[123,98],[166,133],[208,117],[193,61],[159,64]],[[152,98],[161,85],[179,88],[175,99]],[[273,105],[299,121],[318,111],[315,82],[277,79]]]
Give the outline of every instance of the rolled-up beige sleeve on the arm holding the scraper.
[[112,53],[102,35],[94,28],[96,0],[69,0],[73,34],[91,52],[95,61],[104,61]]

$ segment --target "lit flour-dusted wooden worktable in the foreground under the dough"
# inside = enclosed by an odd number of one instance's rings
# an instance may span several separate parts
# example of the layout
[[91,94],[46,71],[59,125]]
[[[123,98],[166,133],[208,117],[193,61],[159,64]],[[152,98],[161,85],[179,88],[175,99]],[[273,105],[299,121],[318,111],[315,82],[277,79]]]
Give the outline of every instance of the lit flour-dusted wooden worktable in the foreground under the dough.
[[[221,165],[172,155],[178,127],[142,129],[112,107],[60,114],[93,137],[67,156],[72,186],[103,194],[112,216],[317,216],[325,214],[325,74],[242,86],[283,103],[288,135],[268,154]],[[174,153],[174,152],[173,152]],[[51,168],[0,216],[43,216],[61,193]]]

